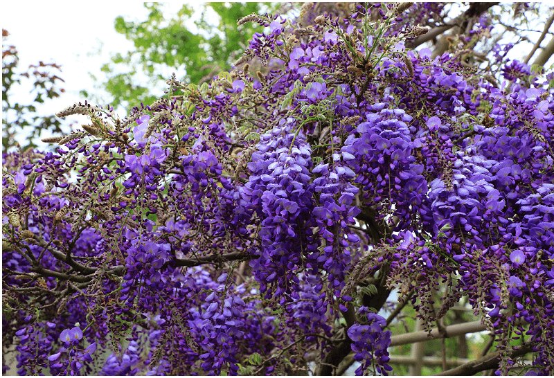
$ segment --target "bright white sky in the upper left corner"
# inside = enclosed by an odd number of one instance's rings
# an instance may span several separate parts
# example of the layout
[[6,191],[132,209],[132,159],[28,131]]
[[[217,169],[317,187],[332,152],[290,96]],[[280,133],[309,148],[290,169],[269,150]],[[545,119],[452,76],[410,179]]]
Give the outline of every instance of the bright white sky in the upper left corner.
[[[183,3],[171,3],[170,9],[178,10]],[[99,79],[105,78],[100,66],[109,62],[110,53],[125,54],[132,50],[132,42],[114,28],[116,17],[139,21],[148,16],[141,1],[2,1],[0,13],[2,28],[10,33],[8,44],[14,45],[18,51],[17,72],[24,72],[30,64],[41,60],[62,66],[58,75],[65,80],[60,85],[65,93],[54,100],[46,100],[46,104],[38,109],[41,115],[54,114],[75,102],[84,101],[79,91],[85,89],[90,93],[93,89],[94,82],[89,73]],[[100,47],[101,55],[97,55]],[[16,87],[19,86],[12,87],[13,100],[30,104],[32,97],[26,98],[30,86],[17,92]],[[43,145],[46,146],[39,143],[39,147]]]

